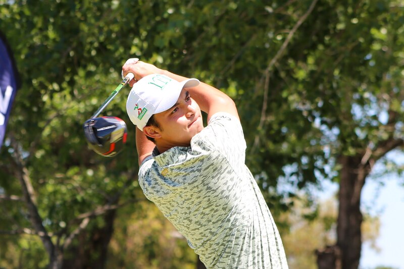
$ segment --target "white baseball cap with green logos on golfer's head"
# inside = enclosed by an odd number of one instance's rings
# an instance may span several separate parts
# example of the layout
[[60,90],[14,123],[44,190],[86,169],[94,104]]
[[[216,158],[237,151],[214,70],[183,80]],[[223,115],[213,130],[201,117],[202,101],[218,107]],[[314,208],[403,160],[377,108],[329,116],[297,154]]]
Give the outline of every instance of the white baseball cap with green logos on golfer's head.
[[197,85],[199,80],[195,78],[178,82],[166,75],[147,75],[136,82],[130,90],[126,101],[129,119],[143,131],[152,115],[170,109],[177,102],[182,88]]

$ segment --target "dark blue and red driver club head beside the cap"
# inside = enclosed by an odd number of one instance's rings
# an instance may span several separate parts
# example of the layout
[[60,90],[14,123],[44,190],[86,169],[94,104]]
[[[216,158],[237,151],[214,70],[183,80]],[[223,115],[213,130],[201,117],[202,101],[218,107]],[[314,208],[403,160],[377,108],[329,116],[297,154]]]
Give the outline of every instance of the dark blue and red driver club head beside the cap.
[[83,127],[88,146],[99,155],[113,157],[126,143],[126,124],[120,118],[93,118],[87,120]]

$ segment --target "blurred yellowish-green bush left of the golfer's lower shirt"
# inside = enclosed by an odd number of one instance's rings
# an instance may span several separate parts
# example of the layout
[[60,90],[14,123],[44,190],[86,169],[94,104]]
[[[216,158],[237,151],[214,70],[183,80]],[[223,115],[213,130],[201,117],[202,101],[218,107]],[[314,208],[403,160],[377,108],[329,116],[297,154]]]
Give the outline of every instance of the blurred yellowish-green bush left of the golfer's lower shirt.
[[120,210],[106,267],[194,268],[196,254],[151,202]]

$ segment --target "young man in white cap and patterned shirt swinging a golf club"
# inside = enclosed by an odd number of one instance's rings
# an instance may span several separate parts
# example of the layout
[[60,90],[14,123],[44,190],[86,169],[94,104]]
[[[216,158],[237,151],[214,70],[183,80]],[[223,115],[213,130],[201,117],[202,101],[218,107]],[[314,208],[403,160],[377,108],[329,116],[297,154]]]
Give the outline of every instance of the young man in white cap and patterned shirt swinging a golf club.
[[[135,75],[126,110],[137,126],[144,195],[207,268],[287,268],[278,229],[244,164],[233,100],[144,62],[125,64],[122,72]],[[208,114],[207,127],[201,111]]]

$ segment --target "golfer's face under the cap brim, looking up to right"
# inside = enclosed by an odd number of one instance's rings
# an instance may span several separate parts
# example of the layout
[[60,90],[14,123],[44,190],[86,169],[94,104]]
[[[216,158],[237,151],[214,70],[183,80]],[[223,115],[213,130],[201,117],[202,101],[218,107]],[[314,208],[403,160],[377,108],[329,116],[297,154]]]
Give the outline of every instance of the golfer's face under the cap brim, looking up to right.
[[171,109],[155,114],[161,126],[162,139],[176,146],[189,146],[191,138],[204,129],[199,105],[182,89]]

